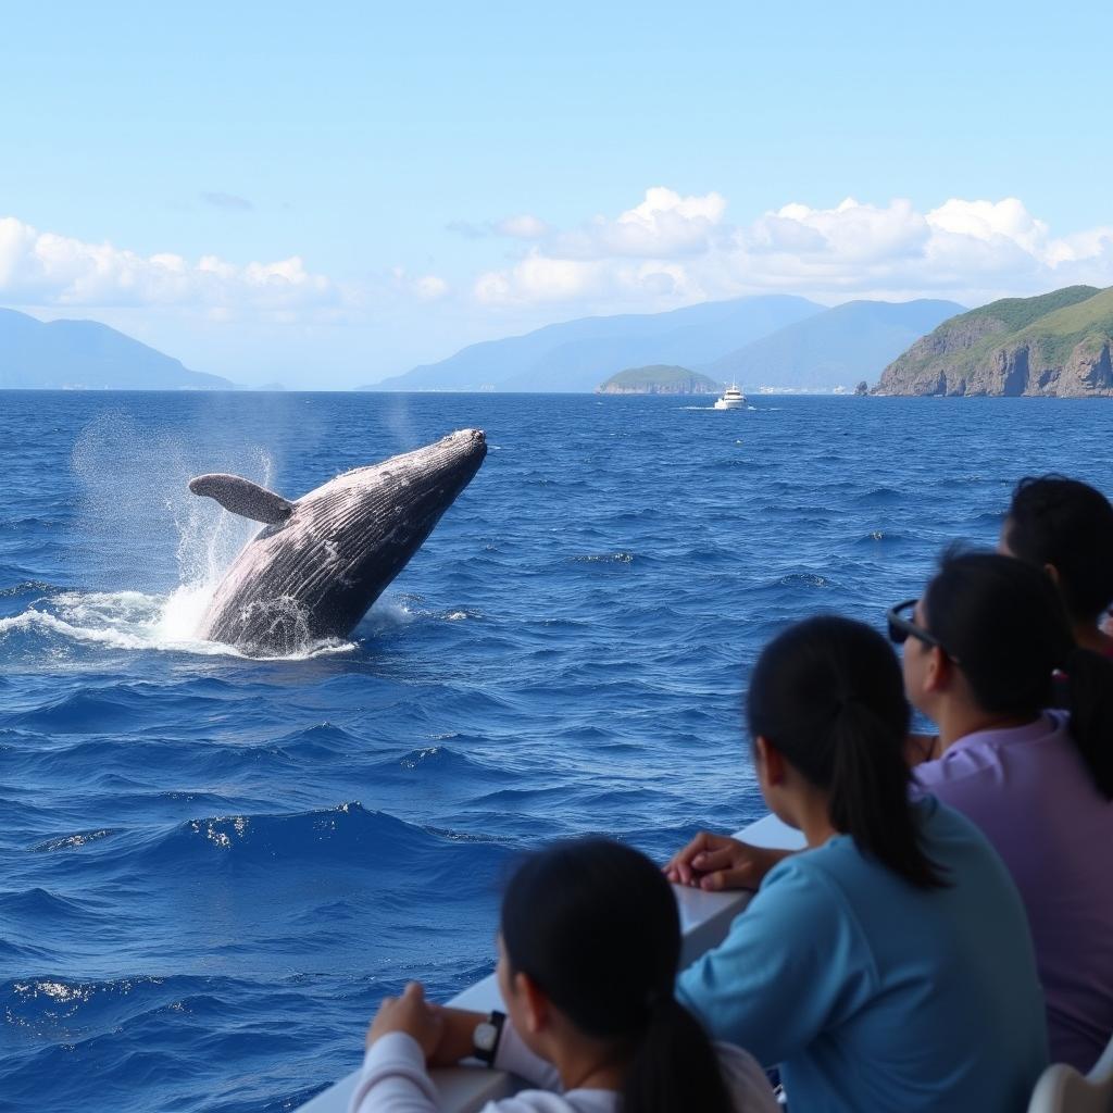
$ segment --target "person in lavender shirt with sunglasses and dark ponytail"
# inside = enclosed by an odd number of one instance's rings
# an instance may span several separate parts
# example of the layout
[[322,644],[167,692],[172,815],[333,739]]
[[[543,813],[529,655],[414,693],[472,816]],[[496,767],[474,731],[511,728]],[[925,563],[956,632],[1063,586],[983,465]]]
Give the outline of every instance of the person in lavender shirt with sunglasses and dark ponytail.
[[939,730],[914,785],[1008,866],[1052,1057],[1086,1071],[1113,1035],[1113,663],[1076,644],[1052,578],[995,553],[945,556],[889,630],[908,698]]

